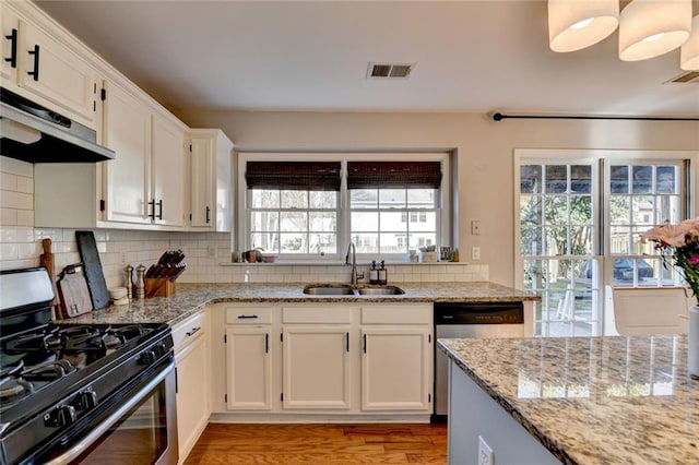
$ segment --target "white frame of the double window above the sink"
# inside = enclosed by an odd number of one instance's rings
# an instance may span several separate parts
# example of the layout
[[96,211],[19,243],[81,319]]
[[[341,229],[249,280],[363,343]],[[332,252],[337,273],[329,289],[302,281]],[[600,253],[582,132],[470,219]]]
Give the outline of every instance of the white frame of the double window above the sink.
[[[438,210],[441,214],[437,217],[437,241],[438,245],[457,246],[455,238],[452,238],[452,224],[457,218],[452,211],[452,174],[451,153],[440,152],[254,152],[246,151],[237,153],[235,170],[236,205],[233,214],[234,228],[232,228],[230,245],[232,250],[249,250],[250,243],[250,212],[247,205],[248,189],[245,179],[247,162],[340,162],[341,163],[341,187],[337,216],[337,253],[313,254],[294,253],[281,254],[277,263],[330,263],[344,262],[346,248],[350,243],[350,191],[347,189],[347,162],[440,162],[441,163],[441,186],[438,194]],[[408,261],[410,255],[405,254],[381,254],[357,253],[357,260],[386,260],[387,262]]]

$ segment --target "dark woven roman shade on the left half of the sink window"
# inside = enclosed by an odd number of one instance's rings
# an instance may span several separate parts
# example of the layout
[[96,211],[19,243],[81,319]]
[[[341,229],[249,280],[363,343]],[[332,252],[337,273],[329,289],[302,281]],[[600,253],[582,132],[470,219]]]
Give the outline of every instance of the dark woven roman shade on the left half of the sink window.
[[248,189],[340,190],[340,162],[248,162]]

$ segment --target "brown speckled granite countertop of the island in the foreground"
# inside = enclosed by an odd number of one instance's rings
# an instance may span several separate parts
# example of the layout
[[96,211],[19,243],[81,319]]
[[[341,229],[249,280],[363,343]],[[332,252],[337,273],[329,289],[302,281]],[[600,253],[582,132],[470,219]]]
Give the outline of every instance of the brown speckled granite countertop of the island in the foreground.
[[699,463],[687,336],[439,339],[562,463]]

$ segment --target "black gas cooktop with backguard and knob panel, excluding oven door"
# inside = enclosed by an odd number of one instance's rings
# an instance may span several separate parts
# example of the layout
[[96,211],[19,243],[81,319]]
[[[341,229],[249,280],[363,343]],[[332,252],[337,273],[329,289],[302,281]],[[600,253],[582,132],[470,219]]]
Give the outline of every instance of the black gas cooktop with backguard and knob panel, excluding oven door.
[[44,269],[0,273],[2,464],[49,461],[174,363],[168,325],[55,324],[47,286]]

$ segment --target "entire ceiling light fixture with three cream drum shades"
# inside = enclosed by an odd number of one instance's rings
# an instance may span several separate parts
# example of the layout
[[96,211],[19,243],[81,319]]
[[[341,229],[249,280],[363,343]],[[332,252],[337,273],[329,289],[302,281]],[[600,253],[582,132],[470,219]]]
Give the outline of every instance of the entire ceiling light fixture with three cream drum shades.
[[691,34],[691,0],[631,0],[619,10],[619,0],[548,0],[550,49],[590,47],[618,26],[620,60],[647,60],[689,43],[683,47],[682,67],[699,70],[699,21],[695,19]]

